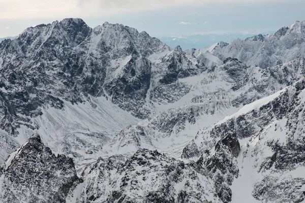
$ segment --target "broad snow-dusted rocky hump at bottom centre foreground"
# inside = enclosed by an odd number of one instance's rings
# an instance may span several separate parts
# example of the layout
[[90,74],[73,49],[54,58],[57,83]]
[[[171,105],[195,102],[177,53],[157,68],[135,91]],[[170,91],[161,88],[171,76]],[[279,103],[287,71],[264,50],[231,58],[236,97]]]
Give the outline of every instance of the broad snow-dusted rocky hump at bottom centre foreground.
[[206,195],[213,192],[188,164],[147,149],[139,149],[117,166],[100,158],[83,176],[86,184],[77,202],[83,198],[92,202],[94,198],[97,202],[207,203]]

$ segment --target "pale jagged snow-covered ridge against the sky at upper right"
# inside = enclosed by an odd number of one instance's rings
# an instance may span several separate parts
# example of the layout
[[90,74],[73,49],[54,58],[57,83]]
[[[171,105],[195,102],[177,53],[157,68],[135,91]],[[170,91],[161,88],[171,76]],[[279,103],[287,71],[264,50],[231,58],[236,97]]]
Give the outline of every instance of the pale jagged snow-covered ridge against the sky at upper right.
[[274,34],[234,40],[225,47],[216,46],[213,55],[225,60],[234,57],[247,65],[268,67],[304,57],[305,21],[296,21]]

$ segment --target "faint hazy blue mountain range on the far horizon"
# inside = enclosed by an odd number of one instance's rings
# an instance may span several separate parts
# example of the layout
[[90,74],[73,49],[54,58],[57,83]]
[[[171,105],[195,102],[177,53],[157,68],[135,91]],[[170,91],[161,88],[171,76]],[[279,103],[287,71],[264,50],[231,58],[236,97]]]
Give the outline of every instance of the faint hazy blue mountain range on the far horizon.
[[[262,32],[262,35],[273,33],[275,31]],[[211,46],[218,42],[231,43],[235,39],[245,40],[246,38],[253,37],[259,33],[242,33],[242,32],[228,32],[222,34],[206,34],[206,35],[184,35],[184,36],[160,36],[157,37],[161,42],[174,48],[180,46],[182,50],[187,49],[202,49]]]

